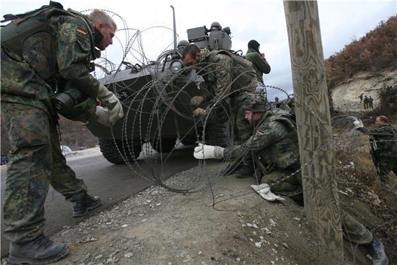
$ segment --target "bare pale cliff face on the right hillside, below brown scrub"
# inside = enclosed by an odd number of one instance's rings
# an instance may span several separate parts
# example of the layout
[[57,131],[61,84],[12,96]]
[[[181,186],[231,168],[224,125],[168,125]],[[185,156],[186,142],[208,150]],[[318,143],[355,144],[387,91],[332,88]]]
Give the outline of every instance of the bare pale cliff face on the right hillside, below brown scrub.
[[372,97],[374,108],[379,104],[378,91],[387,86],[397,86],[397,70],[377,73],[360,72],[331,90],[334,110],[341,112],[361,111],[359,95]]

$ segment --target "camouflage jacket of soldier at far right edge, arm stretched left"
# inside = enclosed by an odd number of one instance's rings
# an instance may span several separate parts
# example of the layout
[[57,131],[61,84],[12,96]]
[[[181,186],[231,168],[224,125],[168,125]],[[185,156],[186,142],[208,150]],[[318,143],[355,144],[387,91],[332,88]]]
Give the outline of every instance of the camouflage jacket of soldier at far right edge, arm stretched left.
[[381,157],[396,157],[397,160],[397,129],[385,124],[376,129],[359,128],[359,131],[374,138]]

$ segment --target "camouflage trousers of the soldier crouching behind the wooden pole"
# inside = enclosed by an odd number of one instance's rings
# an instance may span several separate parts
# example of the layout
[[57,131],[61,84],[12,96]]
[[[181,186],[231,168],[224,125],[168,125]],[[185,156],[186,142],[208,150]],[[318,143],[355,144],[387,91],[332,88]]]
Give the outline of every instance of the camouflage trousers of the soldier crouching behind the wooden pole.
[[[303,201],[302,176],[300,173],[296,173],[292,177],[288,177],[297,169],[298,166],[292,166],[287,169],[272,171],[262,177],[261,183],[268,184],[274,193],[291,197],[296,201]],[[280,182],[278,183],[278,181]],[[341,210],[341,219],[342,231],[346,240],[355,244],[370,244],[372,234],[364,225],[344,210]]]

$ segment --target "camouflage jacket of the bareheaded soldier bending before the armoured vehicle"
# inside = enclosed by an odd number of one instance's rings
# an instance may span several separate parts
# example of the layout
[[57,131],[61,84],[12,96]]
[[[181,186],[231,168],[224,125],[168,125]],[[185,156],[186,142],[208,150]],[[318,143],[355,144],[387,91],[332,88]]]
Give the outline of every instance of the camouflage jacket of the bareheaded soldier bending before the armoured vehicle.
[[[257,86],[257,77],[251,62],[232,57],[225,50],[201,49],[199,75],[208,84],[217,99],[227,98],[233,92],[252,92]],[[211,91],[213,90],[213,91]]]

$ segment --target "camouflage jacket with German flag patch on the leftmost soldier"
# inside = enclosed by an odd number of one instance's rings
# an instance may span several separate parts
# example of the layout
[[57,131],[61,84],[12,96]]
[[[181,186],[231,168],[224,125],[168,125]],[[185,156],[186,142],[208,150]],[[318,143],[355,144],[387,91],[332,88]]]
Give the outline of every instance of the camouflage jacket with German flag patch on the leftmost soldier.
[[[47,31],[38,31],[14,45],[1,43],[1,101],[52,113],[51,98],[67,83],[86,96],[97,96],[99,81],[90,75],[90,62],[97,57],[94,34],[99,33],[94,33],[87,16],[68,12],[71,16],[51,16]],[[12,23],[6,27],[18,28]]]

